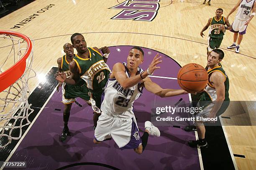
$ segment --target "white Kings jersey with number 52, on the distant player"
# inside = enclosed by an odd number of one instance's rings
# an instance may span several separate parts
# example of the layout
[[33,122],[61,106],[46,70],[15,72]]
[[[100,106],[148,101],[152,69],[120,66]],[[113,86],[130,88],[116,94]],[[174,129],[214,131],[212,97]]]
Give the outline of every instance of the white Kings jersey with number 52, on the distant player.
[[246,21],[250,18],[251,10],[253,8],[253,4],[255,0],[242,0],[240,3],[240,6],[238,8],[238,11],[236,13],[236,18],[238,20]]

